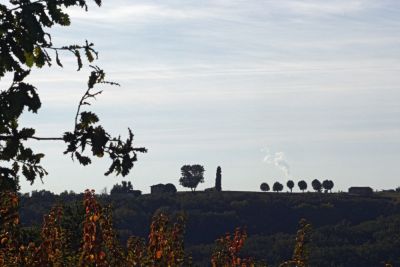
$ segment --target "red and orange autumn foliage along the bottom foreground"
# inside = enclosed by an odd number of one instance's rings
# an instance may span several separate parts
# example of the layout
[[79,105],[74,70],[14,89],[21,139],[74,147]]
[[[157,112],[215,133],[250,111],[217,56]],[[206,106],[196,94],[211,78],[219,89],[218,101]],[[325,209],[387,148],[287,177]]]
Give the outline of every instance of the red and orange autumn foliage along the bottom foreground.
[[[123,248],[113,229],[110,207],[102,207],[94,191],[84,194],[85,216],[80,248],[73,250],[63,229],[63,208],[55,206],[44,216],[40,242],[25,244],[21,237],[18,214],[19,199],[15,192],[0,193],[0,266],[191,266],[184,250],[185,218],[172,222],[159,213],[153,217],[148,241],[130,237]],[[301,222],[293,258],[284,266],[308,266],[310,225]],[[211,256],[214,267],[266,266],[241,255],[247,239],[244,229],[237,228],[216,240]]]

